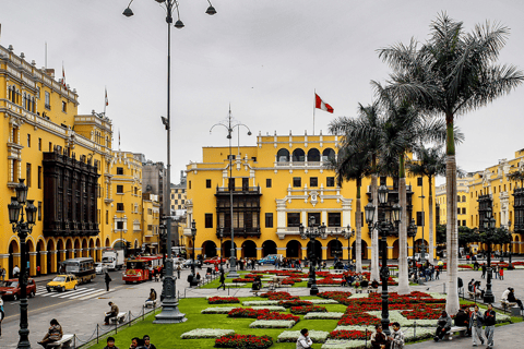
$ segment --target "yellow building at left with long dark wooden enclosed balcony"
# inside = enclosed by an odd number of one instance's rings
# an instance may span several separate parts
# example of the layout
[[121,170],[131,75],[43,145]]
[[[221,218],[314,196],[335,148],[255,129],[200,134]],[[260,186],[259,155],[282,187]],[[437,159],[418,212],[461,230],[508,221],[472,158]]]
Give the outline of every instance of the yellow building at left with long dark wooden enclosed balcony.
[[23,53],[0,46],[0,142],[5,144],[0,147],[5,184],[0,185],[0,266],[9,275],[21,260],[8,218],[19,179],[38,208],[27,238],[31,275],[37,266],[41,274],[56,273],[61,261],[74,256],[99,260],[104,246],[123,238],[142,245],[140,161],[111,151],[111,121],[94,111],[79,116],[78,98],[75,89],[55,80],[53,70],[37,69]]

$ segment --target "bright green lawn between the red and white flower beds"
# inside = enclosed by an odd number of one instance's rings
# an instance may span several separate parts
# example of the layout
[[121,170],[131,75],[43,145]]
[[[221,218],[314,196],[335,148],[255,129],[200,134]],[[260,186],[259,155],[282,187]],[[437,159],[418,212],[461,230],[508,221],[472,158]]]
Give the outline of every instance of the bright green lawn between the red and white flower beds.
[[[314,297],[311,297],[314,298]],[[260,300],[260,298],[242,298],[246,300]],[[224,304],[228,305],[229,304]],[[249,325],[254,321],[253,318],[231,318],[226,314],[201,314],[200,311],[210,306],[205,299],[192,298],[180,300],[180,312],[186,314],[187,322],[172,325],[156,325],[153,324],[154,315],[151,314],[143,322],[119,329],[118,334],[111,335],[116,339],[116,346],[119,348],[128,348],[131,344],[131,338],[148,335],[151,342],[157,348],[180,348],[187,346],[188,348],[213,348],[214,339],[180,339],[180,335],[186,332],[190,332],[195,328],[230,328],[235,329],[237,334],[241,335],[267,335],[273,338],[275,344],[271,348],[296,348],[295,342],[276,342],[276,338],[284,330],[299,330],[301,328],[310,328],[315,330],[331,332],[335,329],[338,320],[303,320],[303,315],[300,315],[300,322],[290,329],[285,328],[249,328]],[[330,312],[344,312],[345,305],[342,304],[326,304],[325,306]],[[107,337],[107,336],[106,336]],[[96,342],[91,347],[94,349],[103,349],[106,346],[106,338],[100,339],[100,342]],[[313,348],[320,348],[321,344],[313,345]]]

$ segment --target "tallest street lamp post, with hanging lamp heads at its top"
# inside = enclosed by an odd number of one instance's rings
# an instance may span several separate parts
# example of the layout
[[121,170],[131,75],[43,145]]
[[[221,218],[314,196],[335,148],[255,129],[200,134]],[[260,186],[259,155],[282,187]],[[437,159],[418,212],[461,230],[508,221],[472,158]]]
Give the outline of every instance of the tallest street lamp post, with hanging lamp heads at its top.
[[[171,156],[170,156],[170,124],[171,124],[171,117],[170,117],[170,104],[171,104],[171,24],[172,24],[172,14],[177,12],[177,22],[175,23],[175,27],[178,29],[183,28],[183,23],[180,21],[180,13],[178,11],[178,1],[177,0],[155,0],[156,2],[164,4],[166,10],[166,23],[167,23],[167,118],[162,117],[162,122],[164,123],[167,132],[167,171],[166,171],[166,184],[167,188],[167,197],[170,197],[170,186],[171,186]],[[128,4],[128,8],[123,11],[123,15],[130,17],[133,15],[133,11],[131,10],[130,5],[133,2],[131,0]],[[209,15],[213,15],[216,13],[215,8],[211,4],[210,0],[207,0],[210,7],[205,11]],[[166,198],[164,200],[164,204],[166,203]],[[165,212],[164,215],[166,217],[166,226],[167,226],[167,261],[165,264],[166,273],[164,275],[164,284],[163,284],[163,292],[165,294],[164,301],[162,303],[162,312],[155,316],[155,324],[175,324],[181,323],[187,321],[184,314],[180,313],[178,310],[178,301],[176,299],[176,285],[175,278],[172,276],[174,268],[172,268],[172,255],[171,255],[171,213],[170,213],[170,205],[166,207],[168,210]]]

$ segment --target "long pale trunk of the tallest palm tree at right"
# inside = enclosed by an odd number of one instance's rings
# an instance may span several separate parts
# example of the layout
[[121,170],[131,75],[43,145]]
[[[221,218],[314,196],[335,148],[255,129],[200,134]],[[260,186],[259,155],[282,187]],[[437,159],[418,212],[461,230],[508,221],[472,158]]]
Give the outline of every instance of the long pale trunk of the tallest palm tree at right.
[[456,230],[456,160],[453,135],[453,115],[446,113],[446,158],[445,158],[445,195],[448,196],[446,213],[446,251],[448,251],[448,298],[445,310],[448,314],[456,314],[460,308],[457,274],[458,274],[458,232]]

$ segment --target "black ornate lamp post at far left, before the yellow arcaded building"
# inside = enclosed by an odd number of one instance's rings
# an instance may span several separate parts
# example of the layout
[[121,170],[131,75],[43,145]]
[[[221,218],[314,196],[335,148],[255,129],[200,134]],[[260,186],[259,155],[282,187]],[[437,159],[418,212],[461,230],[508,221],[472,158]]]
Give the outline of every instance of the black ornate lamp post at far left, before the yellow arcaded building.
[[[20,330],[19,345],[16,348],[31,348],[29,342],[29,325],[27,323],[27,251],[25,239],[33,231],[33,226],[36,221],[36,212],[38,208],[33,205],[33,200],[27,200],[27,186],[24,184],[24,179],[20,179],[16,185],[16,196],[11,197],[11,203],[8,204],[9,222],[12,225],[13,232],[19,234],[20,239]],[[27,221],[24,220],[24,205]],[[21,215],[22,213],[22,215]],[[19,220],[20,218],[20,220]]]

